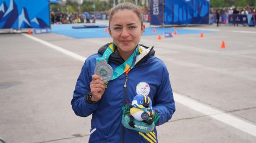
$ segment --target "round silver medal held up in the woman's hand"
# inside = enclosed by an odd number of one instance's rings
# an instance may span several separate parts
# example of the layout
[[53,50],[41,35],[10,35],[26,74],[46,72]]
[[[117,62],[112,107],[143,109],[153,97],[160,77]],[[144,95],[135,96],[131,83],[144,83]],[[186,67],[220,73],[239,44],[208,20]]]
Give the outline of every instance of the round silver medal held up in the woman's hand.
[[94,74],[101,76],[103,81],[107,82],[113,77],[113,69],[105,61],[97,61]]

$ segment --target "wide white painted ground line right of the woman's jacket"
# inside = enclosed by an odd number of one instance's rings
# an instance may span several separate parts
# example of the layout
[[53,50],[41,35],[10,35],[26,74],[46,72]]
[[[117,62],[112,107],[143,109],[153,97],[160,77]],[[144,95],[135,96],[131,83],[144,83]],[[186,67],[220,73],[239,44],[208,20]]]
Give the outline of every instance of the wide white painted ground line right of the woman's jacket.
[[209,105],[199,103],[185,95],[174,92],[175,102],[188,106],[189,108],[201,112],[202,114],[208,115],[209,117],[215,118],[222,123],[226,123],[236,129],[242,130],[252,136],[256,136],[256,125],[248,123],[238,117],[229,115],[224,111],[214,109]]

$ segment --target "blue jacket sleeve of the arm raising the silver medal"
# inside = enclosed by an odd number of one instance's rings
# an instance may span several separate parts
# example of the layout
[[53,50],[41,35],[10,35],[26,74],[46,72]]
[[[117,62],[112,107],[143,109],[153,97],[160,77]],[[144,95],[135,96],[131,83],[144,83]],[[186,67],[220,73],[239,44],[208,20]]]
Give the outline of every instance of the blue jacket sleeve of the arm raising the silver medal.
[[90,64],[84,64],[81,73],[77,79],[73,99],[71,101],[72,109],[77,116],[87,117],[97,109],[98,104],[88,104],[85,101],[86,94],[90,91],[90,82],[92,80],[89,74]]

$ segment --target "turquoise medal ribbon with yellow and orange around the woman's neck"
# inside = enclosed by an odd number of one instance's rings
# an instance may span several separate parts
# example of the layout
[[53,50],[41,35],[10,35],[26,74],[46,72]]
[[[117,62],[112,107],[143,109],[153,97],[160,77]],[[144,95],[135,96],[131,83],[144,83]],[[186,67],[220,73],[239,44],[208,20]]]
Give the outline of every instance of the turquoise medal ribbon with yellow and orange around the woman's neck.
[[[114,43],[111,43],[108,48],[105,50],[101,58],[96,58],[96,61],[106,61],[108,63],[109,56],[116,50],[116,45]],[[141,52],[141,49],[139,48],[139,45],[137,45],[136,49],[134,50],[133,54],[121,65],[116,67],[113,70],[113,77],[110,80],[114,80],[115,78],[118,78],[123,74],[124,72],[132,69],[134,67],[135,59],[139,52]]]

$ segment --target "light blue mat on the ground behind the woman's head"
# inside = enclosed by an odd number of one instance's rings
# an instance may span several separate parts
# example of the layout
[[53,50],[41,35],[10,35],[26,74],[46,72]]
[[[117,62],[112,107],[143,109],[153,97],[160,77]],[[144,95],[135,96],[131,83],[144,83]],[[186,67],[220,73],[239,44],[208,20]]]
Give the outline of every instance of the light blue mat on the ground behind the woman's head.
[[[104,38],[110,37],[108,32],[105,32],[105,28],[78,28],[74,29],[72,26],[79,26],[84,24],[70,24],[70,25],[52,25],[52,32],[65,35],[68,37],[73,37],[76,39],[83,39],[83,38]],[[99,24],[100,25],[100,24]],[[103,25],[103,24],[102,24]],[[145,32],[142,36],[151,36],[151,35],[158,35],[163,34],[164,32],[174,32],[177,30],[178,34],[194,34],[194,33],[214,33],[212,31],[201,31],[201,30],[186,30],[186,29],[179,29],[179,28],[162,28],[156,27],[156,32],[153,33],[153,27],[146,27]]]

